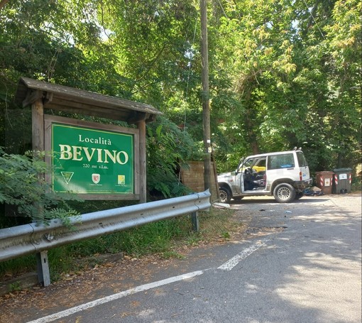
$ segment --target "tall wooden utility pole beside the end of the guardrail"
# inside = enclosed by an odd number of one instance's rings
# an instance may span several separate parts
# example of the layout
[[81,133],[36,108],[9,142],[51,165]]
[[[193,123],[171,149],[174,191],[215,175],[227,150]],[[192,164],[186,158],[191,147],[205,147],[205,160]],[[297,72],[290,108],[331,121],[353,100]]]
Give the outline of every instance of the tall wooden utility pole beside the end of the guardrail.
[[202,56],[202,124],[204,129],[204,187],[212,192],[209,102],[209,55],[207,45],[207,0],[200,0]]

